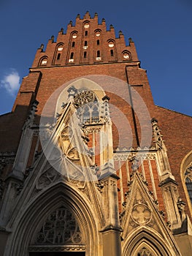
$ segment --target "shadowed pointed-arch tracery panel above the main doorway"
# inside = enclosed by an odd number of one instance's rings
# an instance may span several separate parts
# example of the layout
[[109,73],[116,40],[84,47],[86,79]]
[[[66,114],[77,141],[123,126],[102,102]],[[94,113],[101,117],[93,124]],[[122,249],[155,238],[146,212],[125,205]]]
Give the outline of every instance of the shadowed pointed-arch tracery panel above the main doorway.
[[36,244],[83,244],[74,214],[64,206],[51,212],[37,233]]

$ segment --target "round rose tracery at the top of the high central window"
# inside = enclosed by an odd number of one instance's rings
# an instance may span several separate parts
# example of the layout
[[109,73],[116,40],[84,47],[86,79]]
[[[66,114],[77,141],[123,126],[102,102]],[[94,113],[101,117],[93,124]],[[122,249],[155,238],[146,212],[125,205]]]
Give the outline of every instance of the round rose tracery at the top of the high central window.
[[74,104],[77,107],[93,102],[95,99],[95,94],[93,91],[80,91],[78,94],[74,95]]

